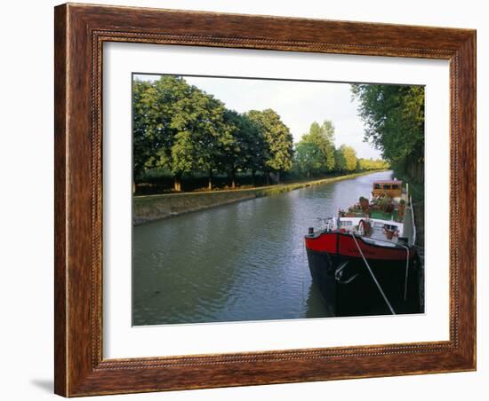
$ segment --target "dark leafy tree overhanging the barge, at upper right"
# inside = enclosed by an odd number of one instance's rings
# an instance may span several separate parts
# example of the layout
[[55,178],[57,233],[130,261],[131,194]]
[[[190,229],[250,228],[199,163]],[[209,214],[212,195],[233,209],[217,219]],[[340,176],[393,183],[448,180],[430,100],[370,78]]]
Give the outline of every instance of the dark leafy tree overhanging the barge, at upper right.
[[365,122],[365,141],[382,157],[419,181],[424,179],[424,87],[352,85]]

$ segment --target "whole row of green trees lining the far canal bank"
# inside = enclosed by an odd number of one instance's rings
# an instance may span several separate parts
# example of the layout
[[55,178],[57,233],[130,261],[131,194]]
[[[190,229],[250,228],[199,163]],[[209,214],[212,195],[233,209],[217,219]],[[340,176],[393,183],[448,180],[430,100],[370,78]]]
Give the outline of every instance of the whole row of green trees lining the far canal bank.
[[333,171],[382,169],[383,161],[357,159],[347,145],[334,146],[329,121],[313,122],[301,142],[272,109],[244,114],[224,104],[183,78],[164,75],[154,82],[133,83],[133,180],[143,180],[148,169],[164,169],[181,190],[181,177],[204,172],[209,189],[216,173],[228,174],[236,185],[236,172],[247,171],[253,183],[258,171],[294,171],[310,177]]

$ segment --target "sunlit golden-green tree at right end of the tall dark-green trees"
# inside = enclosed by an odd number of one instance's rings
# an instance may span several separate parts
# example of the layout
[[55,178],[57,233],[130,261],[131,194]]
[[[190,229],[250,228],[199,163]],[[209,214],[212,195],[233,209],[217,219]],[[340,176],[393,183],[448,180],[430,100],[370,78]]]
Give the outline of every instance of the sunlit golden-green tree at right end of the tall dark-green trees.
[[280,172],[288,171],[293,166],[293,136],[289,128],[272,109],[251,110],[246,116],[259,127],[265,139],[265,171],[276,171],[279,181]]

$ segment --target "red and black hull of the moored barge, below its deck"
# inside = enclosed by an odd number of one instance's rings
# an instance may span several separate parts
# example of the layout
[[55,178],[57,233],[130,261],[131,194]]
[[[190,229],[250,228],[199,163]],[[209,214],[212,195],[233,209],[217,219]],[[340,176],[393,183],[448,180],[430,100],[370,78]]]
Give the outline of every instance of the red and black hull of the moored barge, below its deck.
[[[375,278],[396,313],[421,311],[421,263],[414,248],[367,244],[356,237]],[[305,238],[309,270],[332,316],[389,314],[389,306],[349,233],[321,232]],[[407,273],[407,274],[406,274]],[[406,279],[407,277],[407,279]]]

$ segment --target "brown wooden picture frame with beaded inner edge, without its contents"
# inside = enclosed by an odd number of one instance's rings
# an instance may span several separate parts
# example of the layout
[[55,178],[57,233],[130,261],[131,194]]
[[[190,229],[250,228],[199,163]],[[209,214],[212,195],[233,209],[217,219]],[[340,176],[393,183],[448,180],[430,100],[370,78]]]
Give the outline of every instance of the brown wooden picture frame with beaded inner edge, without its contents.
[[[476,369],[474,30],[83,4],[56,7],[54,28],[57,394],[76,397]],[[449,60],[449,341],[104,359],[101,79],[106,42]]]

